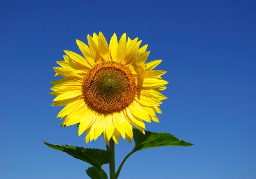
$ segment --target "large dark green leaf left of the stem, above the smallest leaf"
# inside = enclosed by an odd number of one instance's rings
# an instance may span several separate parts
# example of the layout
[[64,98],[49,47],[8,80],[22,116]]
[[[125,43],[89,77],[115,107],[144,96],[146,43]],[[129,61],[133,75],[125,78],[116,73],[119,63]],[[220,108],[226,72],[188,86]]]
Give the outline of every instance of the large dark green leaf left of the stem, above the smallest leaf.
[[68,155],[75,157],[76,159],[83,160],[94,166],[98,171],[101,171],[101,166],[103,164],[110,163],[112,159],[112,153],[110,151],[105,151],[101,149],[95,148],[83,148],[83,147],[76,147],[76,146],[68,146],[68,145],[54,145],[44,142],[45,145],[56,149],[58,151],[63,151]]

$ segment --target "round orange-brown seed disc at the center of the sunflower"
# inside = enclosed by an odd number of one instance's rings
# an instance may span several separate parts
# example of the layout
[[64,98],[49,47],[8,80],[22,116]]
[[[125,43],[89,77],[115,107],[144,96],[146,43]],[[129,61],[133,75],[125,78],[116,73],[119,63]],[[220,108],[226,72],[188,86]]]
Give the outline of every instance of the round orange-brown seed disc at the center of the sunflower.
[[112,114],[128,107],[135,99],[136,89],[132,72],[113,61],[95,65],[82,84],[85,102],[102,114]]

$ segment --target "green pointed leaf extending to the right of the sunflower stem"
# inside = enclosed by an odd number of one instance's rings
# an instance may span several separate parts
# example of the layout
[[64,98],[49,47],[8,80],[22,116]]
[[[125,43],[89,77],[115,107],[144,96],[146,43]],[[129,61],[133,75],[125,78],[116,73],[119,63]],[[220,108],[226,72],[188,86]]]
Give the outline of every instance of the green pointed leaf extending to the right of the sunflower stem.
[[161,146],[191,146],[193,144],[179,140],[170,133],[156,133],[145,131],[145,135],[138,129],[133,129],[133,139],[135,141],[135,147],[133,152]]

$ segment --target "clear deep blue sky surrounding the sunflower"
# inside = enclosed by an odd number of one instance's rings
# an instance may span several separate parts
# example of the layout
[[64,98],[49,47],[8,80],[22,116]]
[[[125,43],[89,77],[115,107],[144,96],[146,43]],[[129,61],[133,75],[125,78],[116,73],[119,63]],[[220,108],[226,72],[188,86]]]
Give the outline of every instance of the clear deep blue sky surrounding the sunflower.
[[[148,61],[163,60],[168,99],[146,130],[195,144],[139,151],[120,179],[256,178],[256,1],[0,0],[0,179],[89,178],[89,164],[42,141],[105,149],[61,128],[48,94],[63,50],[81,54],[76,39],[99,31],[139,37]],[[134,146],[119,141],[116,168]]]

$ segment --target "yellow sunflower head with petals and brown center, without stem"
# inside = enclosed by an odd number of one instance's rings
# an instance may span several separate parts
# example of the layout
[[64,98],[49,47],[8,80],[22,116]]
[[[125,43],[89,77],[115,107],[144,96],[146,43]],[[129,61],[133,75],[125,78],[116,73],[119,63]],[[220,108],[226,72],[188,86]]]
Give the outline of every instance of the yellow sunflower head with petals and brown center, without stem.
[[160,92],[168,82],[161,77],[166,71],[153,69],[162,60],[145,63],[148,45],[139,48],[141,41],[126,33],[119,42],[114,33],[109,45],[101,32],[87,38],[89,46],[76,40],[84,57],[64,50],[64,61],[56,61],[55,76],[64,78],[52,81],[52,105],[65,106],[57,117],[62,127],[80,123],[86,143],[102,133],[106,144],[111,138],[117,144],[120,134],[131,142],[132,126],[145,134],[144,121],[159,122],[156,113],[166,99]]

